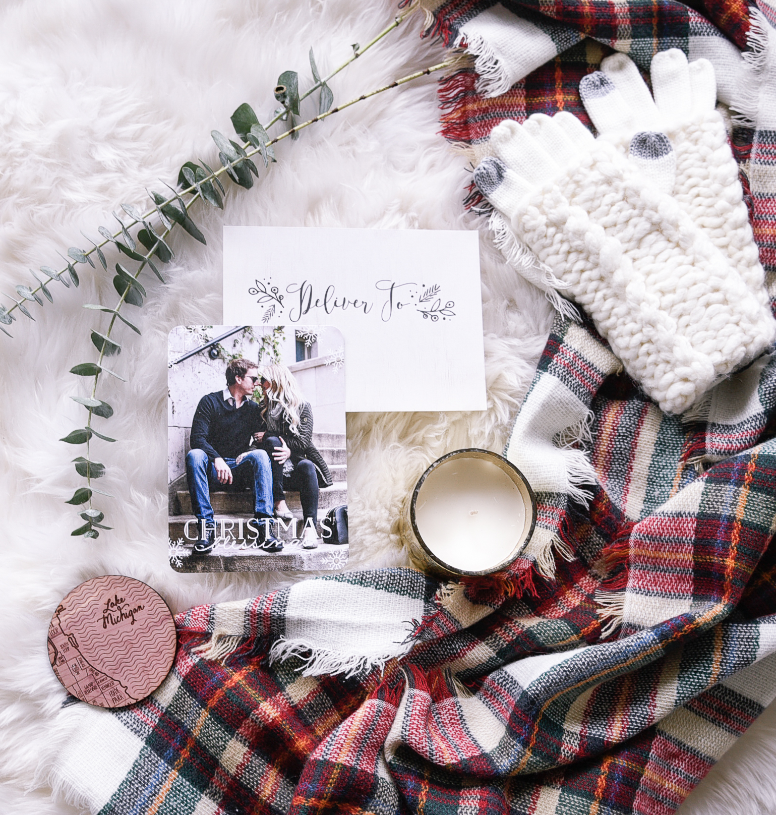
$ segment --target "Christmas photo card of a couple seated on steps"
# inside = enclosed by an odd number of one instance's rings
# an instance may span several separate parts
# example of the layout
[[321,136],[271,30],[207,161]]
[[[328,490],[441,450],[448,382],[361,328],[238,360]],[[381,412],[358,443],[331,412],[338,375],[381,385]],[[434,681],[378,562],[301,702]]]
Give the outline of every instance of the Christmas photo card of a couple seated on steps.
[[[170,333],[174,569],[345,565],[341,339],[336,329],[317,327],[179,327]],[[324,432],[315,427],[314,407]]]

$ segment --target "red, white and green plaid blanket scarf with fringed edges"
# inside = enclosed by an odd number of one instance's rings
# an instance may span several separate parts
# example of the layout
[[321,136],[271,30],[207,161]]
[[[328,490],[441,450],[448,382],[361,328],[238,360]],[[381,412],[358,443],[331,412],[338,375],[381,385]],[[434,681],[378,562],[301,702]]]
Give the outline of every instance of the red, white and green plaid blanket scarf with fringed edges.
[[[611,47],[752,73],[734,141],[776,271],[769,8],[752,29],[743,2],[430,11],[486,59],[442,86],[445,132],[474,152],[504,117],[584,119],[579,79]],[[539,504],[508,573],[330,575],[189,610],[152,697],[60,711],[51,781],[100,815],[672,813],[776,696],[774,425],[776,357],[667,416],[558,316],[505,451]]]

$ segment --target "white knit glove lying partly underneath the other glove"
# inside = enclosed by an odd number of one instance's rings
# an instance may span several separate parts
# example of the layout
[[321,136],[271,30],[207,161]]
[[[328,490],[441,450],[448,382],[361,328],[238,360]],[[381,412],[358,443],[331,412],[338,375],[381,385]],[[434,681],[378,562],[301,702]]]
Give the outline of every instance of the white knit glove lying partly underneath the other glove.
[[[650,66],[652,95],[636,64],[613,54],[601,70],[580,82],[580,96],[602,139],[633,161],[706,232],[730,259],[761,305],[769,307],[764,271],[749,225],[739,182],[739,167],[716,111],[716,80],[708,59],[688,64],[682,51],[660,51]],[[664,152],[660,137],[634,150],[642,130],[659,131],[673,151]],[[641,151],[649,155],[642,155]]]

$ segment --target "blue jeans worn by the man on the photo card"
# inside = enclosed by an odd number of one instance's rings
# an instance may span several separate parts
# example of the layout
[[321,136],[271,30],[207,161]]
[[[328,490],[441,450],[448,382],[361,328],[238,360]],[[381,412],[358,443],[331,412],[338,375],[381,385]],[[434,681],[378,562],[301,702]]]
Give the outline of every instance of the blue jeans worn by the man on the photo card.
[[214,526],[213,506],[210,504],[211,490],[229,492],[253,487],[254,512],[272,515],[272,468],[270,458],[263,450],[251,450],[240,464],[234,459],[224,459],[231,469],[231,484],[218,482],[215,465],[204,450],[190,450],[186,454],[186,478],[188,494],[192,496],[192,509],[198,521],[205,520],[206,526]]

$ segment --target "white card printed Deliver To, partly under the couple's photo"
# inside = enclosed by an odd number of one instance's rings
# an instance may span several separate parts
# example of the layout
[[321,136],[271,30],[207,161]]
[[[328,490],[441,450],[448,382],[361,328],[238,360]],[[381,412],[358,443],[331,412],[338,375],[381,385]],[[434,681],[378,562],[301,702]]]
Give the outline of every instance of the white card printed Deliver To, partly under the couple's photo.
[[224,227],[226,324],[334,325],[348,411],[485,409],[476,231]]

